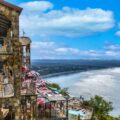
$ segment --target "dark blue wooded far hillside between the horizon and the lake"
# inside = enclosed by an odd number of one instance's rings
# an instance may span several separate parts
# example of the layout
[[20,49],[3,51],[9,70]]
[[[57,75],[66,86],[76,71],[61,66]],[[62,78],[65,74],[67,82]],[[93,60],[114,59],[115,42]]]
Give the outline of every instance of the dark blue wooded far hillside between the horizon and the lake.
[[118,60],[33,60],[32,68],[43,77],[71,74],[88,70],[120,67]]

